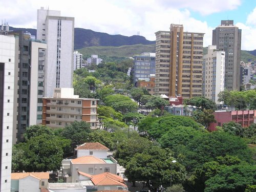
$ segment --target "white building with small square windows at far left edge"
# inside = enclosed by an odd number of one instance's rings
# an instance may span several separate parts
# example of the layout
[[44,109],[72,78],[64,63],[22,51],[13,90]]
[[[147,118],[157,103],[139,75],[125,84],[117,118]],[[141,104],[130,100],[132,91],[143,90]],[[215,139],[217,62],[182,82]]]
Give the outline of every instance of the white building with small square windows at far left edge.
[[15,38],[0,35],[0,191],[11,188]]

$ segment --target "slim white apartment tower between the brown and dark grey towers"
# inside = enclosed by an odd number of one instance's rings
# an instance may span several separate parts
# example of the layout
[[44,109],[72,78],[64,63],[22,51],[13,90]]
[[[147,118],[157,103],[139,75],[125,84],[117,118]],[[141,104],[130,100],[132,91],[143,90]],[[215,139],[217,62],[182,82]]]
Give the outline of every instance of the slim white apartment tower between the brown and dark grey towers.
[[218,94],[224,91],[225,51],[217,46],[208,46],[208,53],[203,56],[203,96],[218,102]]

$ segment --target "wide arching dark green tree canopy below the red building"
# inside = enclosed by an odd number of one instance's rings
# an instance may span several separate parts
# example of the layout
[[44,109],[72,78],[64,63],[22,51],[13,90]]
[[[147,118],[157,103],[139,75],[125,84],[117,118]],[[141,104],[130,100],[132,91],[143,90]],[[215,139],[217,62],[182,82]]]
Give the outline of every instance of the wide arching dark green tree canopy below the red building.
[[224,155],[252,162],[252,152],[245,141],[224,132],[198,134],[186,146],[177,146],[174,151],[177,155],[184,155],[183,164],[189,170],[200,168],[205,162],[216,161],[217,157]]

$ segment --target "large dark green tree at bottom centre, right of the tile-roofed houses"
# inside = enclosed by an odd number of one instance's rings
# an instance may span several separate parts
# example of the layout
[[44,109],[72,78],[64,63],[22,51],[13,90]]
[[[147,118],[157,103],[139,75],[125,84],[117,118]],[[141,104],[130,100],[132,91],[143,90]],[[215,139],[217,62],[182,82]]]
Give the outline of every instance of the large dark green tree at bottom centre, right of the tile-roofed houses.
[[[135,154],[125,166],[128,181],[146,181],[150,191],[162,191],[172,182],[182,183],[185,180],[185,169],[179,162],[172,163],[169,150],[152,145],[148,150]],[[172,167],[172,171],[170,170]]]

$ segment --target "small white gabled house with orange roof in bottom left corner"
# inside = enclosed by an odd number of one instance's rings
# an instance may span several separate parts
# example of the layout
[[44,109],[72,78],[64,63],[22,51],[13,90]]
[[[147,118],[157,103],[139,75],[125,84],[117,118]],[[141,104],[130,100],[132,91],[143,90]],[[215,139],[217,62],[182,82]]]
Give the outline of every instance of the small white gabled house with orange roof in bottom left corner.
[[11,174],[11,191],[35,192],[41,188],[48,187],[49,173],[12,173]]

